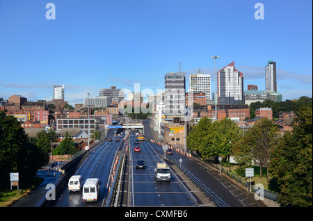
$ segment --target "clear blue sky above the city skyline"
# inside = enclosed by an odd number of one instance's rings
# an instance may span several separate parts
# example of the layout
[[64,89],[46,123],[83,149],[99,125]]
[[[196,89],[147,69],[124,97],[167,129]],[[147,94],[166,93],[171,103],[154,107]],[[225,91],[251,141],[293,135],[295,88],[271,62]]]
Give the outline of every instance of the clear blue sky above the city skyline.
[[[46,19],[47,3],[56,19]],[[255,3],[264,19],[255,19]],[[164,88],[166,72],[211,74],[234,61],[248,84],[265,90],[265,65],[277,63],[282,99],[312,97],[312,1],[0,0],[0,97],[65,100],[116,85]],[[188,83],[188,82],[187,82]]]

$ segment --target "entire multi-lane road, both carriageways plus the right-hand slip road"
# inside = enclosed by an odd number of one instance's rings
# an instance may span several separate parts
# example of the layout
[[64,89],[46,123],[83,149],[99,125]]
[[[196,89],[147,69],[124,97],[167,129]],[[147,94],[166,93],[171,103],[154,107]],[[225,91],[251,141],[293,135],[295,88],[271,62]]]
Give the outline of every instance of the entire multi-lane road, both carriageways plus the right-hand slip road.
[[[149,124],[145,124],[146,128]],[[149,128],[149,127],[148,127]],[[150,129],[150,128],[149,128]],[[147,133],[149,134],[149,133]],[[113,167],[117,156],[125,155],[125,167],[121,168],[122,175],[120,189],[118,190],[118,207],[144,207],[144,206],[179,206],[179,207],[257,207],[264,206],[254,201],[248,193],[238,188],[234,183],[218,174],[218,171],[207,167],[191,158],[175,152],[173,156],[163,158],[163,149],[154,142],[145,140],[139,143],[141,152],[134,152],[135,131],[132,131],[127,139],[115,141],[114,130],[110,129],[108,138],[95,149],[90,150],[88,156],[74,172],[81,175],[83,181],[88,178],[99,178],[101,182],[100,194],[97,202],[86,203],[81,199],[81,192],[69,193],[67,185],[58,193],[54,207],[108,207],[107,201],[113,186],[111,179]],[[137,145],[137,144],[136,144]],[[169,160],[170,159],[170,160]],[[195,185],[186,171],[182,171],[173,162],[182,159],[184,170],[193,174],[201,185],[209,189],[211,193],[223,202],[219,204],[205,194],[203,188]],[[145,161],[145,169],[137,169],[136,162]],[[170,182],[156,182],[154,169],[157,163],[166,162],[171,168]],[[114,168],[115,169],[115,168]],[[73,175],[74,175],[73,174]],[[117,177],[117,176],[116,176]]]

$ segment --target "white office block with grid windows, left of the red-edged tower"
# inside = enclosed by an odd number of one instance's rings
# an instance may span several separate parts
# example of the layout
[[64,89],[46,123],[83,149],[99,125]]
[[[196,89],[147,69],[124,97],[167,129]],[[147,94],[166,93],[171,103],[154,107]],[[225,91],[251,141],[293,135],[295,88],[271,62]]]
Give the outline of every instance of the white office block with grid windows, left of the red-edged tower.
[[211,100],[211,74],[191,74],[189,76],[189,90],[192,92],[203,92],[206,100]]

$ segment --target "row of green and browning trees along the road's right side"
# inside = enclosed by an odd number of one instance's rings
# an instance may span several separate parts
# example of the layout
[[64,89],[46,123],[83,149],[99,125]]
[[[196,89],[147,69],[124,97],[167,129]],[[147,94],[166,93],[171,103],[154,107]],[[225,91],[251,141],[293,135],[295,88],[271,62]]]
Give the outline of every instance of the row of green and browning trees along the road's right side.
[[202,158],[233,156],[242,169],[259,165],[277,179],[278,200],[284,206],[312,206],[312,105],[298,110],[294,131],[279,133],[267,118],[243,132],[232,120],[204,117],[187,137],[188,148]]

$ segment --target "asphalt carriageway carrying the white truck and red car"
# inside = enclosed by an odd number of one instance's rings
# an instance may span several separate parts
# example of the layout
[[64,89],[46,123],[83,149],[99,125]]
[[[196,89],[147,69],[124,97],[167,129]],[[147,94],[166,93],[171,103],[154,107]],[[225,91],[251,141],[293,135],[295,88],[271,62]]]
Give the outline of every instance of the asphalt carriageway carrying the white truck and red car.
[[[134,133],[133,133],[134,134]],[[154,181],[157,163],[163,163],[145,140],[141,152],[134,152],[135,137],[129,138],[129,202],[127,206],[197,206],[190,193],[172,174],[170,182]],[[136,161],[143,160],[145,169],[136,169]]]

